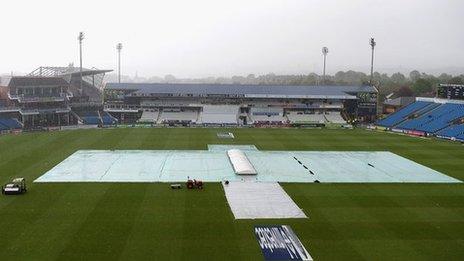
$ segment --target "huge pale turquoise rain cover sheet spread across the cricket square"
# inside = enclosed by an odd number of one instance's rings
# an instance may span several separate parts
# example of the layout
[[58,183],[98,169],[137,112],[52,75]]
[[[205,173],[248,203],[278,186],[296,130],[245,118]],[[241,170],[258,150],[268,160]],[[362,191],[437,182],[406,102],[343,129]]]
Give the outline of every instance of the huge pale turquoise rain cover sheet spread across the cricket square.
[[[209,150],[79,150],[35,182],[460,183],[386,151],[259,151],[254,146],[210,145]],[[257,175],[237,175],[227,151],[240,149]]]

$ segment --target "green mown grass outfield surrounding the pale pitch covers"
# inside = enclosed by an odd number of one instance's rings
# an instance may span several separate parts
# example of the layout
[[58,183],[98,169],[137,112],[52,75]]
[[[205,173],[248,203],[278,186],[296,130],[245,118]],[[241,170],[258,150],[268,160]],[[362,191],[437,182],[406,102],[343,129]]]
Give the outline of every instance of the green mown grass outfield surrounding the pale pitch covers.
[[[464,184],[284,184],[309,219],[236,221],[220,184],[32,180],[78,149],[388,150],[464,180],[464,147],[364,130],[106,129],[0,136],[0,260],[261,260],[253,225],[288,224],[315,260],[464,260]],[[230,129],[229,129],[230,131]]]

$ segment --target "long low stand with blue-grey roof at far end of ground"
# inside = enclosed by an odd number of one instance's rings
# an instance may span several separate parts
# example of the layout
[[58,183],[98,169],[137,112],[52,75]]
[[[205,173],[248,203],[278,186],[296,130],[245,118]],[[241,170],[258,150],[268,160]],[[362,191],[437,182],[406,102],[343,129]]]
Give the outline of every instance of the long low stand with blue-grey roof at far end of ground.
[[[161,112],[157,123],[188,120],[204,125],[286,124],[286,115],[292,110],[306,111],[308,114],[295,116],[294,123],[336,123],[344,122],[343,118],[349,119],[350,122],[372,122],[376,117],[378,92],[373,86],[193,83],[107,83],[104,89],[108,92],[108,95],[104,96],[105,111],[117,117],[122,124],[131,123],[128,119],[139,120],[145,109],[156,109]],[[362,103],[359,102],[360,97]],[[362,108],[358,108],[359,104]],[[127,106],[131,109],[123,109]],[[199,117],[196,121],[190,117],[186,119],[167,112],[166,108],[197,111]],[[326,118],[323,115],[326,111],[334,113],[329,113]],[[170,119],[167,119],[167,116]]]

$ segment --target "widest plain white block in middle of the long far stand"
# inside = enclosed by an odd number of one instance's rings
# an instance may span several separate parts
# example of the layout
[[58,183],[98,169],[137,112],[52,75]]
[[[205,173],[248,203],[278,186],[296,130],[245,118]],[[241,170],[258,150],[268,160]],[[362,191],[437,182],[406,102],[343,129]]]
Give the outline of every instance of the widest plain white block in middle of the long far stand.
[[238,106],[204,105],[201,122],[206,124],[237,124]]

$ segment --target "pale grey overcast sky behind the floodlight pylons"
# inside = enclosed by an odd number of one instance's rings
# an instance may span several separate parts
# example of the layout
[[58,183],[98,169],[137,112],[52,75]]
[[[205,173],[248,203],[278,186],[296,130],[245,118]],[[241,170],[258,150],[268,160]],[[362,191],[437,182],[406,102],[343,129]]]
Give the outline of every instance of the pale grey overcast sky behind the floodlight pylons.
[[[368,71],[464,73],[463,0],[2,1],[0,72],[78,65],[178,77]],[[456,69],[457,68],[457,69]],[[459,71],[461,70],[461,71]]]

